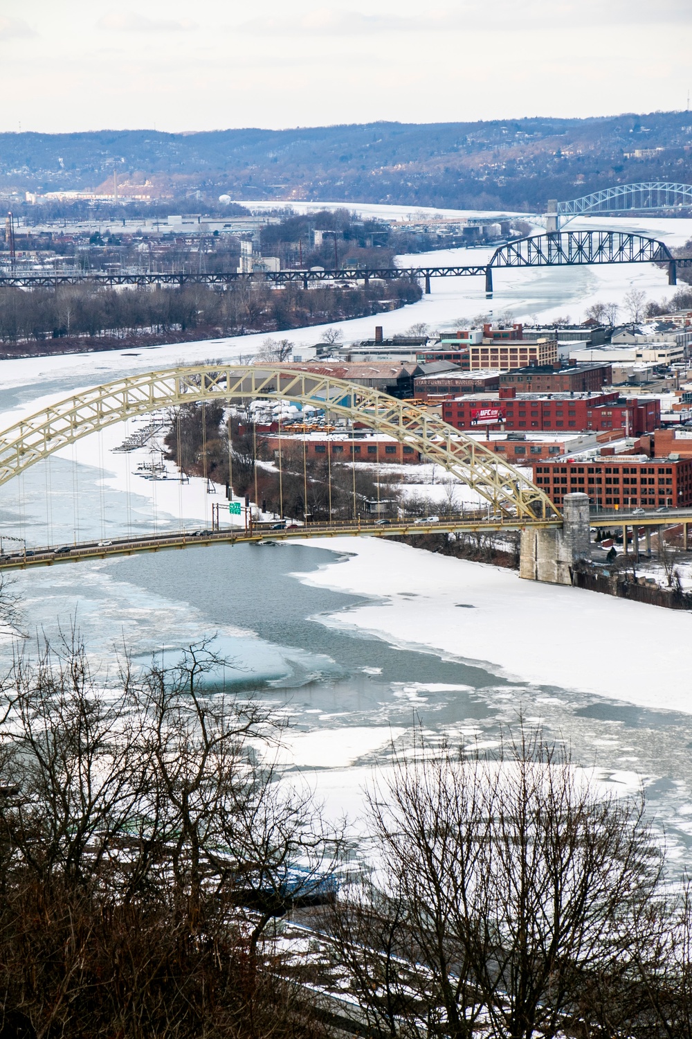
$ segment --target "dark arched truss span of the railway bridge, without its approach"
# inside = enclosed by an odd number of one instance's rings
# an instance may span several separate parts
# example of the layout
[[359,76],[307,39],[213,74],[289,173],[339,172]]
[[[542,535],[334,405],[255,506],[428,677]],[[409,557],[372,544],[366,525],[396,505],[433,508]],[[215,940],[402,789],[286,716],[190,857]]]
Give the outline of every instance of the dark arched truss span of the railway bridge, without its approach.
[[507,242],[495,250],[490,268],[560,267],[607,263],[671,263],[667,245],[624,231],[562,231]]

